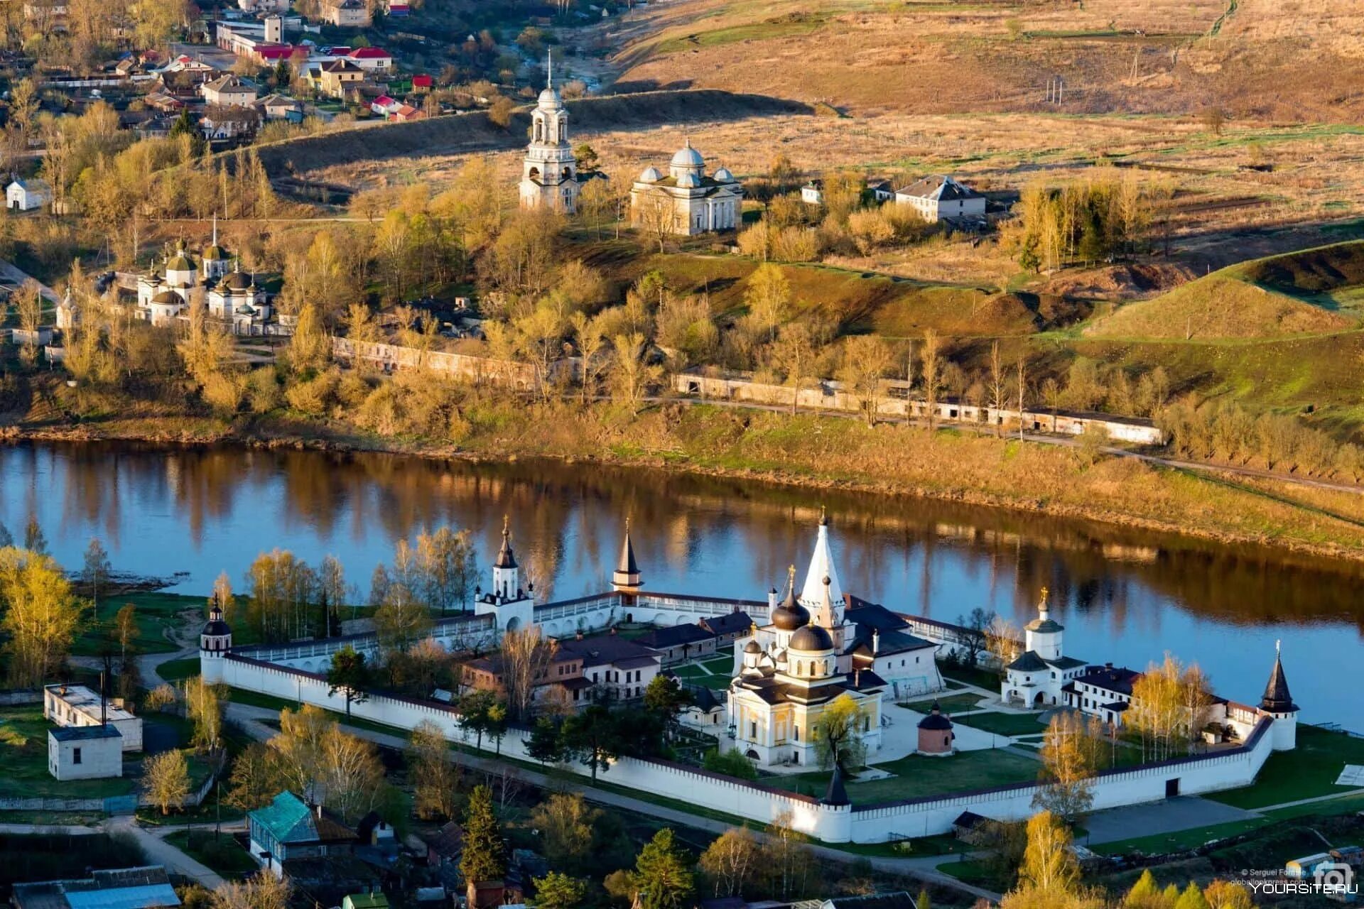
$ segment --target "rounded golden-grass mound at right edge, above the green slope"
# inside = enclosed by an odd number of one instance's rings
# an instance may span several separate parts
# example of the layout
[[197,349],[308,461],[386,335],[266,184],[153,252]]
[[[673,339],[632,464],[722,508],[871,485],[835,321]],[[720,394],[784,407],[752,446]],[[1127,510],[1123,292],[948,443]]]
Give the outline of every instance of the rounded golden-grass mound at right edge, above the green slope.
[[1209,341],[1341,331],[1339,300],[1364,285],[1364,243],[1255,259],[1132,303],[1084,330],[1095,338]]

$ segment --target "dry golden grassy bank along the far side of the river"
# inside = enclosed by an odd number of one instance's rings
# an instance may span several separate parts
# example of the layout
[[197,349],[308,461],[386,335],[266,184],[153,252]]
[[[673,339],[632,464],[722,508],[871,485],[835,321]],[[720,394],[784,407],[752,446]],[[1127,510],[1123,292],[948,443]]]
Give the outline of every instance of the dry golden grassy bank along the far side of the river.
[[953,429],[685,403],[630,414],[607,403],[486,395],[466,398],[451,427],[449,439],[434,439],[285,410],[229,421],[150,409],[106,412],[79,424],[19,421],[0,428],[0,439],[241,444],[472,461],[533,457],[917,496],[1364,560],[1364,496],[1357,493],[1129,458],[1091,462],[1079,450]]

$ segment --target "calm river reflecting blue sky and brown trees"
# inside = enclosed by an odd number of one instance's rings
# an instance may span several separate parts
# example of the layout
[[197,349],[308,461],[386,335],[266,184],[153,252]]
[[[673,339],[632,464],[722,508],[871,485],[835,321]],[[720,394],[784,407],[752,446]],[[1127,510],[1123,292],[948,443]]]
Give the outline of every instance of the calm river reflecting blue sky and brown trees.
[[632,515],[649,590],[762,598],[805,571],[820,506],[850,593],[953,621],[975,606],[1016,624],[1050,589],[1065,653],[1144,668],[1169,650],[1217,692],[1254,703],[1284,645],[1303,718],[1364,730],[1364,566],[1224,546],[1082,521],[887,496],[799,491],[651,470],[400,455],[0,447],[0,522],[37,515],[53,556],[79,568],[91,537],[116,571],[176,578],[206,594],[220,571],[244,590],[261,552],[331,553],[368,589],[393,542],[469,529],[484,570],[509,515],[542,596],[603,590]]

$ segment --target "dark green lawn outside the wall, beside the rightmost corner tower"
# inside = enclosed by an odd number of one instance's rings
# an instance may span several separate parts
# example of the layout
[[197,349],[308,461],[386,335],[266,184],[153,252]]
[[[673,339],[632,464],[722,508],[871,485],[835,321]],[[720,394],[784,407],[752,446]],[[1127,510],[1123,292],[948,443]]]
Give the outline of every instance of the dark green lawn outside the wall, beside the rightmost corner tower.
[[1345,793],[1350,788],[1337,786],[1335,778],[1348,763],[1364,765],[1364,739],[1299,724],[1297,747],[1271,754],[1254,785],[1206,797],[1237,808],[1264,808]]

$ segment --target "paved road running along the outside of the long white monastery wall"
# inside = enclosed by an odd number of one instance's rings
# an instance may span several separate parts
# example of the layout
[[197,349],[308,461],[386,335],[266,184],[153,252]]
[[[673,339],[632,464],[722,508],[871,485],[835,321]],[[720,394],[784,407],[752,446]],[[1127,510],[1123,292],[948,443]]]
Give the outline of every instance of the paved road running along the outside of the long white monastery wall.
[[[269,710],[266,707],[252,707],[250,705],[229,703],[228,705],[228,720],[236,722],[247,735],[255,739],[269,739],[276,735],[276,730],[261,722],[262,720],[277,718],[280,714],[277,710]],[[341,725],[345,725],[344,720]],[[346,726],[346,732],[359,736],[361,739],[368,739],[370,741],[389,748],[406,748],[408,743],[400,736],[393,736],[382,732],[374,732],[371,729],[360,729],[356,726]],[[527,770],[520,766],[513,766],[509,763],[502,763],[495,758],[483,758],[477,755],[471,755],[461,752],[458,755],[461,765],[468,767],[476,767],[488,773],[502,773],[503,770],[512,770],[518,778],[527,782],[543,786],[554,790],[567,790],[578,792],[584,799],[595,801],[597,804],[610,805],[612,808],[623,808],[626,811],[633,811],[649,818],[659,818],[660,820],[668,820],[671,823],[694,827],[698,830],[707,830],[709,833],[720,834],[731,827],[731,825],[723,820],[715,820],[712,818],[698,818],[696,815],[687,814],[685,811],[678,811],[675,808],[668,808],[664,805],[653,804],[652,801],[642,801],[640,799],[633,799],[617,792],[606,792],[603,789],[593,789],[591,785],[578,784],[574,781],[565,781],[559,777],[548,777],[543,773],[535,770]],[[754,831],[760,839],[764,834]],[[837,861],[850,861],[851,856],[840,849],[833,849],[829,846],[812,845],[816,853],[825,856],[828,859],[835,859]],[[952,856],[929,856],[922,859],[888,859],[888,857],[869,857],[873,868],[880,871],[887,871],[891,874],[900,874],[910,878],[917,878],[925,883],[933,883],[943,887],[949,887],[958,890],[959,893],[968,894],[971,897],[979,897],[983,899],[990,899],[998,902],[1000,894],[990,890],[983,890],[981,887],[973,887],[971,884],[962,883],[956,878],[937,871],[937,865],[944,861],[951,861]]]

